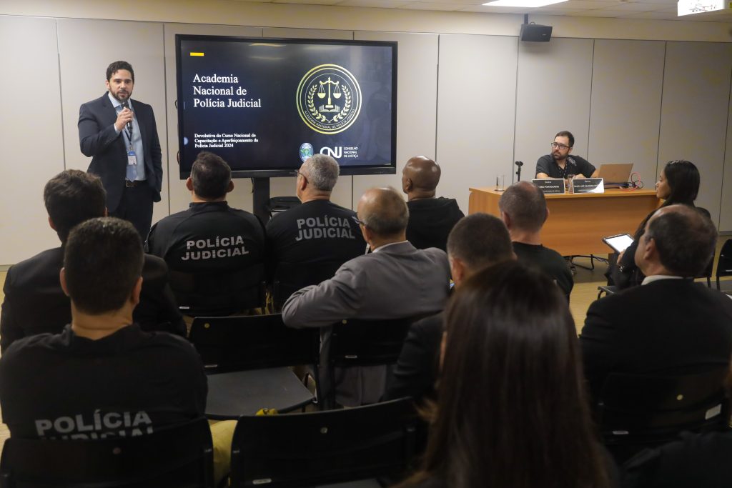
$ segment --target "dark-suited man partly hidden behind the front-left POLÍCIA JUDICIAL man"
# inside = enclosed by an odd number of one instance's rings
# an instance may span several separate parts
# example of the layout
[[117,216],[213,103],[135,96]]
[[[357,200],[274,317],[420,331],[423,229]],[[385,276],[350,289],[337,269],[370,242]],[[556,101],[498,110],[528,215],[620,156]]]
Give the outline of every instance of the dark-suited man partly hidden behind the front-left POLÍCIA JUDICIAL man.
[[[61,240],[61,247],[47,249],[20,261],[7,270],[0,316],[2,352],[21,337],[48,332],[59,334],[71,322],[71,304],[61,290],[59,271],[64,247],[75,225],[93,217],[104,217],[105,191],[99,176],[80,170],[65,170],[45,185],[43,200],[48,224]],[[165,261],[145,255],[140,304],[135,322],[145,331],[185,334],[185,323],[168,285]]]

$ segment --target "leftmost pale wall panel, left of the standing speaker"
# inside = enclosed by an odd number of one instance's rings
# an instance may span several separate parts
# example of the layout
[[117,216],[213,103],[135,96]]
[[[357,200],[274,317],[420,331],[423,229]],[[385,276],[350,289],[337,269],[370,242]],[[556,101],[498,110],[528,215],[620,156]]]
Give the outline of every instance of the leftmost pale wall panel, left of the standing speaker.
[[59,245],[43,187],[64,170],[56,21],[0,18],[0,263]]

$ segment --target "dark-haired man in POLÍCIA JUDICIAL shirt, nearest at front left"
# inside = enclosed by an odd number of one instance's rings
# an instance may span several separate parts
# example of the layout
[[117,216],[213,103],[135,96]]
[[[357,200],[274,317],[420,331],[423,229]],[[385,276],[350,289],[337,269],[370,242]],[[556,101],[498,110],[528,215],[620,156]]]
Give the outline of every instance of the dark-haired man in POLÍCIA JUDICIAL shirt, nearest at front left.
[[130,222],[102,217],[71,231],[60,273],[70,325],[19,339],[0,359],[2,419],[12,437],[144,435],[203,416],[206,374],[193,345],[132,322],[142,265]]

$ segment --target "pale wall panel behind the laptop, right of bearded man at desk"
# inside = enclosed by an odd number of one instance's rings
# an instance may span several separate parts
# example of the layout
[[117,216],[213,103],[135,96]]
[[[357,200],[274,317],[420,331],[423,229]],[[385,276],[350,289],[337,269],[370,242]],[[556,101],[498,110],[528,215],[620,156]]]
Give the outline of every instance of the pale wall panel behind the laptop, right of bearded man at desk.
[[646,188],[656,181],[665,42],[596,40],[589,160],[632,162]]

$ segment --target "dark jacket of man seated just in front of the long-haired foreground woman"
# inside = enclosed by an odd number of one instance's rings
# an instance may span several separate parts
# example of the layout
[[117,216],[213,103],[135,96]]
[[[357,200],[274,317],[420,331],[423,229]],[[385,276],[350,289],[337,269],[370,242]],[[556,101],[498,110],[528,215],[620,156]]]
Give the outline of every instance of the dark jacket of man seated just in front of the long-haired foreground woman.
[[443,314],[423,318],[409,327],[402,352],[386,383],[384,399],[435,399],[440,362]]

